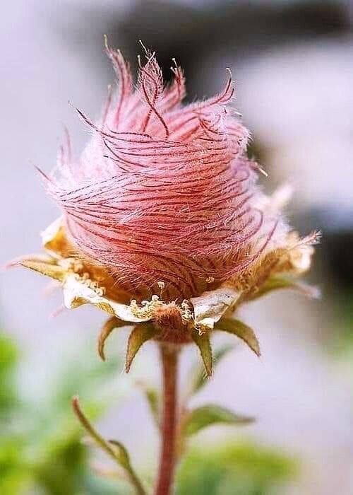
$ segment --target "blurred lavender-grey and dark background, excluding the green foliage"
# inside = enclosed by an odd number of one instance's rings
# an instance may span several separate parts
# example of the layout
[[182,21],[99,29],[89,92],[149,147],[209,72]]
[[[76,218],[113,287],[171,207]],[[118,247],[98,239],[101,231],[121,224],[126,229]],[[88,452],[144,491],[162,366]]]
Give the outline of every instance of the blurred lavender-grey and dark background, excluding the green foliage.
[[[58,214],[34,166],[54,166],[64,124],[76,153],[87,141],[74,107],[99,115],[114,79],[104,34],[133,63],[143,40],[166,78],[176,57],[186,71],[187,100],[218,91],[232,68],[237,108],[253,135],[251,155],[269,173],[263,187],[291,182],[292,225],[303,234],[323,231],[310,275],[323,297],[275,293],[245,308],[263,357],[237,346],[197,400],[253,414],[258,421],[246,436],[301,460],[300,476],[280,491],[285,495],[353,493],[352,22],[353,5],[339,0],[18,0],[1,7],[3,263],[36,252],[40,231]],[[1,327],[25,356],[18,386],[38,404],[66,356],[94,356],[104,319],[90,308],[50,318],[61,297],[44,296],[45,284],[21,270],[1,274]],[[124,355],[125,337],[114,337],[111,356]],[[153,467],[146,459],[157,449],[155,431],[140,395],[128,390],[134,378],[157,380],[155,350],[146,346],[132,378],[120,371],[114,383],[124,400],[104,415],[102,429],[126,442],[137,465]]]

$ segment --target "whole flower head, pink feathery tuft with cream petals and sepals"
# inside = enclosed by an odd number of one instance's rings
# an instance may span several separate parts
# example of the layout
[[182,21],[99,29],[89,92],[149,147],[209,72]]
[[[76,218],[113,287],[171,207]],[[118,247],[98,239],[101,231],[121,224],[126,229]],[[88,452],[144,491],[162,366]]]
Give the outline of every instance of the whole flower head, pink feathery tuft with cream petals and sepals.
[[280,213],[283,190],[268,198],[256,185],[249,132],[229,106],[230,75],[221,93],[183,106],[185,79],[175,62],[165,86],[146,50],[134,88],[121,53],[107,47],[107,54],[119,86],[97,124],[79,112],[92,132],[88,146],[74,161],[67,139],[54,173],[43,174],[62,213],[43,234],[49,258],[20,264],[59,280],[68,308],[92,303],[111,315],[102,356],[114,327],[137,324],[127,368],[147,339],[193,339],[210,373],[215,325],[258,354],[251,329],[237,322],[229,330],[225,316],[261,293],[294,286],[309,268],[316,234],[299,240],[290,233]]

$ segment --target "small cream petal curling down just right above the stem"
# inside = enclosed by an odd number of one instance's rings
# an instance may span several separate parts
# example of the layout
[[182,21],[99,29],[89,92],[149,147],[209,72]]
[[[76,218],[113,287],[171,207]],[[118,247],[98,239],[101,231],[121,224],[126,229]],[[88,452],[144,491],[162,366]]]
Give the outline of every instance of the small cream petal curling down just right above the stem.
[[237,302],[240,293],[230,287],[220,287],[215,291],[205,292],[202,296],[191,298],[195,327],[212,330],[222,315]]

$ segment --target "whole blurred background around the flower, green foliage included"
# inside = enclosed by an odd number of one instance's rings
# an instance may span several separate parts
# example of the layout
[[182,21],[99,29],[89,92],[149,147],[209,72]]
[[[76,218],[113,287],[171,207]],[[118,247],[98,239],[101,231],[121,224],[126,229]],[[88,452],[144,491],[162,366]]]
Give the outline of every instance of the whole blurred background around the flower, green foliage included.
[[[36,252],[58,214],[34,166],[54,166],[64,125],[76,153],[87,141],[73,107],[99,115],[114,79],[104,34],[131,62],[143,40],[166,78],[176,57],[187,100],[218,91],[232,68],[237,108],[253,135],[249,153],[269,174],[263,187],[291,182],[290,222],[303,234],[323,232],[310,274],[323,296],[278,292],[242,310],[263,356],[237,345],[194,402],[219,402],[257,421],[195,436],[177,494],[352,494],[353,4],[17,0],[1,14],[3,264]],[[45,287],[24,270],[1,274],[0,493],[128,494],[123,482],[97,476],[106,459],[80,442],[70,398],[79,394],[101,431],[124,441],[149,482],[158,443],[141,383],[158,385],[155,349],[147,344],[126,377],[127,334],[109,339],[109,359],[100,362],[104,315],[83,307],[52,318],[61,297],[44,295]],[[184,381],[196,359],[186,351]]]

